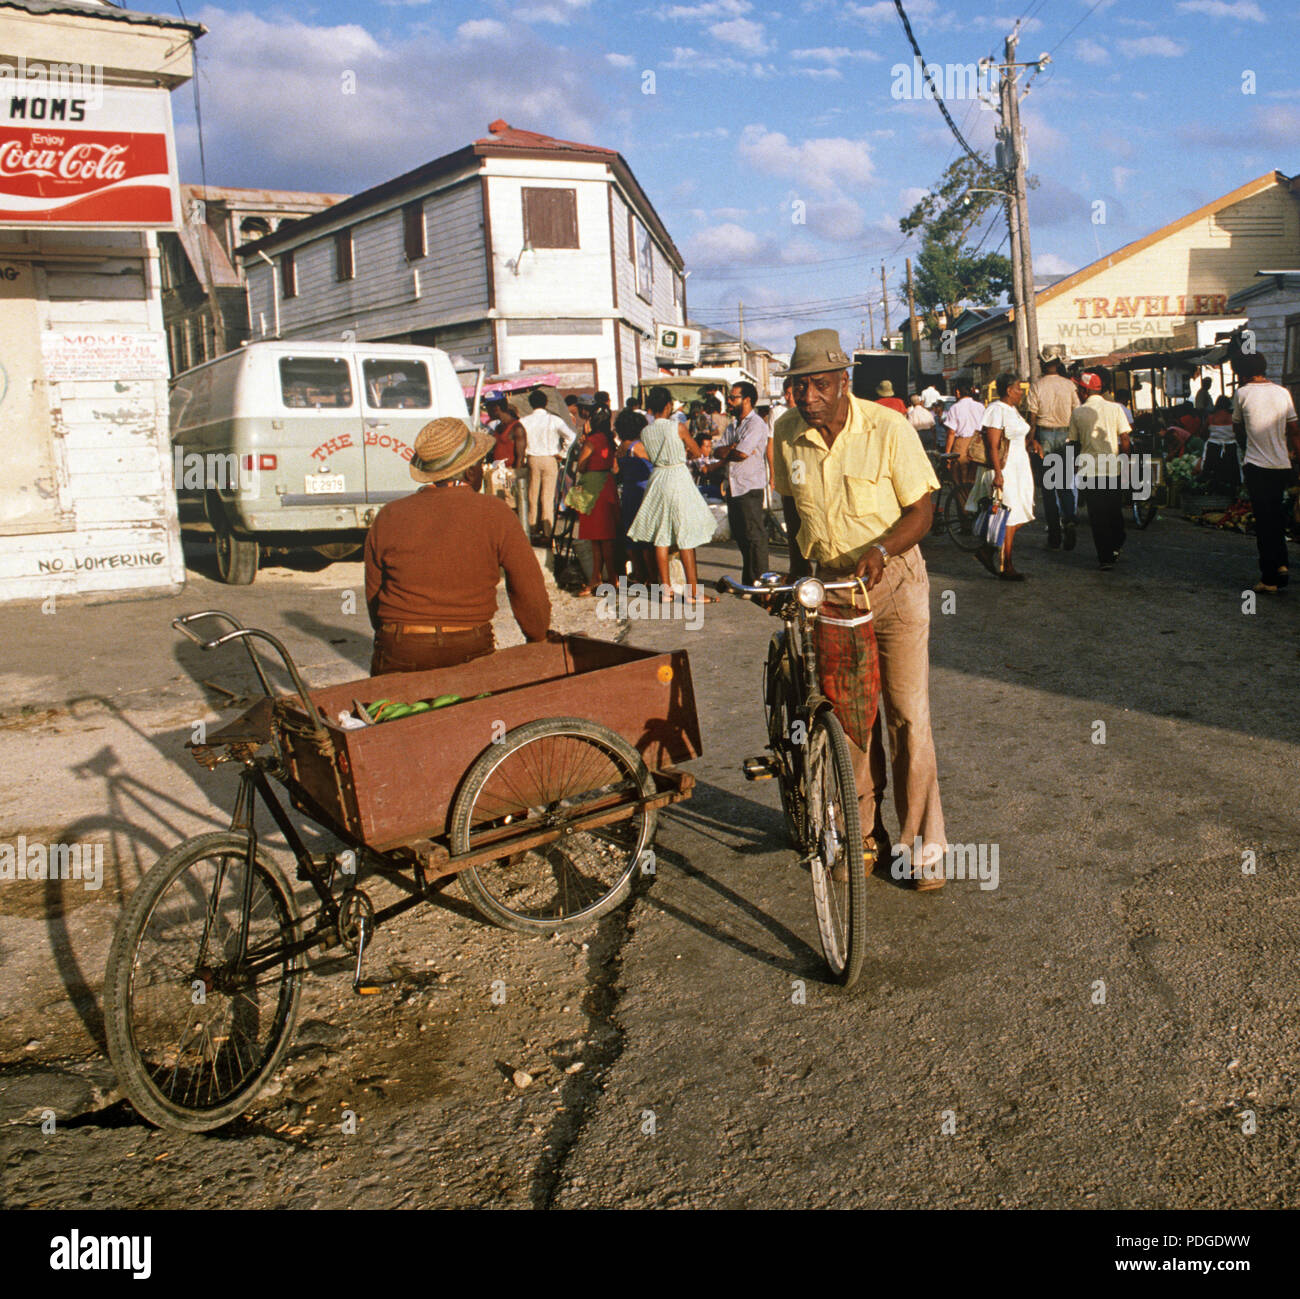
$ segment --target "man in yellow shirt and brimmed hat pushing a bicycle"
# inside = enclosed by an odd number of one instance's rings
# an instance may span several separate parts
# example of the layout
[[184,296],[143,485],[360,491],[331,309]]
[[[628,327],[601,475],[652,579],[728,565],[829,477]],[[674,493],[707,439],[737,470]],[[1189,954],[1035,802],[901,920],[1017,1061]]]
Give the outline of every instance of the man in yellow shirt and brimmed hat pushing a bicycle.
[[[946,837],[930,726],[930,576],[918,544],[930,532],[939,480],[905,416],[852,395],[849,364],[833,329],[796,337],[786,372],[794,380],[794,410],[774,432],[774,480],[798,506],[797,546],[818,573],[861,577],[871,592],[900,828],[894,857],[902,853],[910,862],[906,873],[918,888],[937,888]],[[855,607],[866,607],[863,597]],[[845,729],[862,826],[872,826],[884,849],[880,718],[870,737]],[[911,861],[916,840],[920,862]]]

